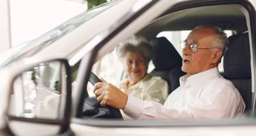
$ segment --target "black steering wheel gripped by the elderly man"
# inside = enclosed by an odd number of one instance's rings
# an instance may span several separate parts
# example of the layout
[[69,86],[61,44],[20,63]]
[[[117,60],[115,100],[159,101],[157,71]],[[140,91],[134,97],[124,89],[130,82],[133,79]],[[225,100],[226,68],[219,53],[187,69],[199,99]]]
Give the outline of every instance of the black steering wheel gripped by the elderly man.
[[[102,81],[91,72],[89,82],[94,85]],[[115,109],[111,106],[107,106],[107,108],[101,107],[96,97],[86,97],[84,99],[83,115],[90,116],[91,118],[123,119],[119,109]]]

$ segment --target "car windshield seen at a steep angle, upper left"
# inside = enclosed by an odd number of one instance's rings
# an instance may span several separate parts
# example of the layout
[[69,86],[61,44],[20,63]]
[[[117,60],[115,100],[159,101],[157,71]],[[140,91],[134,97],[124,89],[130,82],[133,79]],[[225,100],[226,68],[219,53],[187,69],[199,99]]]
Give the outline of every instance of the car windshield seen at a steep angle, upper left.
[[76,17],[72,18],[69,21],[66,21],[63,24],[60,24],[60,26],[50,30],[39,38],[27,42],[26,45],[21,47],[19,52],[11,55],[7,60],[4,61],[2,65],[0,65],[0,67],[8,65],[11,62],[16,61],[20,58],[30,57],[34,55],[35,53],[51,45],[54,41],[57,41],[64,35],[69,34],[70,32],[72,32],[72,30],[75,30],[77,27],[81,26],[81,24],[91,20],[103,11],[113,7],[120,2],[121,1],[111,1],[106,4],[99,5],[93,9],[87,10],[80,15],[77,15]]

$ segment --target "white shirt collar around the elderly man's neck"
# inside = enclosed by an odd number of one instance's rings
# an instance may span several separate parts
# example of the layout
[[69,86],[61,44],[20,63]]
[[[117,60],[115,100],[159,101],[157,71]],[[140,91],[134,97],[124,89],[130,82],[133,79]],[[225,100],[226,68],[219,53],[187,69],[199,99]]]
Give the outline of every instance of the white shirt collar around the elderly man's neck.
[[214,67],[210,70],[206,70],[195,75],[184,75],[180,77],[180,85],[198,85],[202,82],[208,81],[210,78],[220,75],[218,68]]

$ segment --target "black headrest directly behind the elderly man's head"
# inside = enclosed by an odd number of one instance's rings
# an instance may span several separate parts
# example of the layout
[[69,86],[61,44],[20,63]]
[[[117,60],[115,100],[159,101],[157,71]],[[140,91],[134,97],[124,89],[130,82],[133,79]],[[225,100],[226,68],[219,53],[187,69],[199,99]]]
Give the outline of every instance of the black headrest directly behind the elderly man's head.
[[224,54],[224,74],[228,79],[251,78],[248,33],[229,36],[228,51]]

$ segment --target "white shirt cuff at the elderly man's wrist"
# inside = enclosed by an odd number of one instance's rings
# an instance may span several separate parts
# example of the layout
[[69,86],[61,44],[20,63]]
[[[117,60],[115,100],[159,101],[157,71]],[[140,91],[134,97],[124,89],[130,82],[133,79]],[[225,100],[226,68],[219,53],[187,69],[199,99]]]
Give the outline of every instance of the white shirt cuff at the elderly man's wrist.
[[144,102],[134,96],[129,95],[124,113],[133,119],[138,119],[144,109]]

